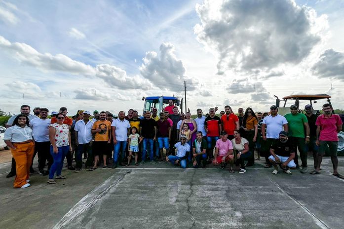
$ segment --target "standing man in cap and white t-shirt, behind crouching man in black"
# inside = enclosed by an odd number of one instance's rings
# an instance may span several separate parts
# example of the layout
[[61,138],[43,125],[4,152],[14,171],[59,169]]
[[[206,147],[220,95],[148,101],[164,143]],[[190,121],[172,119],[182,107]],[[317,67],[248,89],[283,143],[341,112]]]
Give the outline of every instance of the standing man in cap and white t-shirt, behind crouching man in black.
[[262,147],[261,153],[265,156],[266,168],[270,168],[272,165],[268,160],[270,156],[270,146],[274,142],[278,142],[279,132],[288,131],[288,121],[278,114],[278,107],[276,105],[270,106],[270,115],[263,119],[262,123]]

